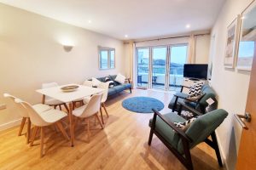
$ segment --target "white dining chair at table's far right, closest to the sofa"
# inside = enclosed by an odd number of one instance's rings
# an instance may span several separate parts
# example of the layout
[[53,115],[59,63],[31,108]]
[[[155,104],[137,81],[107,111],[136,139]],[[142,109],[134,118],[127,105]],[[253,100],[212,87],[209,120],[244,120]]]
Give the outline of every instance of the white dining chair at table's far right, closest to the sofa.
[[[99,86],[97,87],[97,88],[104,89],[104,92],[102,94],[101,108],[100,108],[103,124],[105,124],[105,123],[104,123],[103,115],[102,115],[102,107],[103,107],[104,111],[106,112],[106,115],[108,116],[108,111],[107,111],[107,108],[106,108],[106,105],[105,105],[105,102],[108,99],[108,87],[109,87],[109,82],[101,82],[99,84]],[[90,97],[84,98],[84,104],[88,103],[89,100],[90,100]]]

